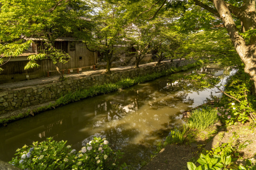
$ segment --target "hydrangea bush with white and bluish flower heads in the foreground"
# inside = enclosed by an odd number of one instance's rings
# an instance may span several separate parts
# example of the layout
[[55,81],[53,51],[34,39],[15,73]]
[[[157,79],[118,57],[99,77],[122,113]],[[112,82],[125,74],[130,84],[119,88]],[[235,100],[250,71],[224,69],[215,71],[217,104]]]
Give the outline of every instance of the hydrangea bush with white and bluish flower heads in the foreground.
[[119,150],[114,152],[105,138],[95,137],[79,151],[66,143],[47,138],[25,145],[16,150],[17,156],[9,164],[25,170],[114,170],[123,155]]

